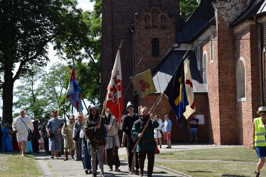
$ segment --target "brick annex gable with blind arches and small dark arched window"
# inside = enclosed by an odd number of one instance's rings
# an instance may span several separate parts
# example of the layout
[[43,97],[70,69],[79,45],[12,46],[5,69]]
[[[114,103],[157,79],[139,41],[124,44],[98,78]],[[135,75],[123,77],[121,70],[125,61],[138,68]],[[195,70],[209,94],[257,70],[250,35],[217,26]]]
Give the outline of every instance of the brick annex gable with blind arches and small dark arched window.
[[[175,43],[177,20],[172,12],[177,14],[177,8],[169,10],[172,7],[177,7],[176,1],[166,1],[161,7],[152,4],[141,14],[135,16],[135,65],[143,57],[136,74],[153,69]],[[154,14],[154,11],[157,13]],[[165,17],[163,22],[162,16]],[[151,41],[153,38],[159,39],[159,56],[152,56]]]

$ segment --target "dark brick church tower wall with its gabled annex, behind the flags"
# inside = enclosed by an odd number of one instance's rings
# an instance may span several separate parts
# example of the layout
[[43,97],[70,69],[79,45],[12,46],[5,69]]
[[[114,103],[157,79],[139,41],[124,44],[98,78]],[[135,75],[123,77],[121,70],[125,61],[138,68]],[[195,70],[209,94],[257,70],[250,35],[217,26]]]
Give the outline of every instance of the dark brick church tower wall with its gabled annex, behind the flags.
[[[174,4],[174,5],[173,5]],[[121,70],[123,91],[125,93],[126,88],[130,82],[130,77],[133,74],[135,65],[139,62],[141,56],[144,56],[143,61],[140,63],[140,67],[137,73],[140,71],[146,71],[153,68],[161,60],[162,56],[166,54],[167,50],[173,45],[175,39],[174,27],[171,27],[171,35],[166,39],[166,34],[163,36],[165,39],[160,40],[160,56],[150,57],[151,55],[151,35],[158,35],[159,31],[152,31],[150,29],[149,35],[143,34],[140,37],[137,32],[137,38],[135,39],[135,64],[133,63],[133,34],[130,31],[130,27],[134,24],[135,13],[137,12],[141,18],[142,11],[147,11],[152,7],[158,7],[164,9],[164,12],[168,14],[178,14],[179,6],[176,0],[103,0],[102,2],[102,52],[101,52],[101,103],[106,96],[106,86],[108,85],[111,77],[111,71],[115,62],[116,52],[123,40],[121,47]],[[158,19],[159,20],[159,19]],[[167,21],[169,21],[167,19]],[[173,22],[175,23],[175,22]],[[134,27],[134,26],[133,26]],[[167,26],[168,28],[168,26]],[[132,28],[134,29],[134,28]],[[162,30],[161,30],[162,31]],[[169,46],[163,44],[163,42],[169,40]],[[144,39],[146,42],[142,42]],[[167,49],[166,49],[167,48]],[[150,66],[150,64],[152,66]],[[127,114],[126,104],[131,101],[134,104],[133,86],[130,83],[126,94],[124,94],[124,111],[123,114]]]

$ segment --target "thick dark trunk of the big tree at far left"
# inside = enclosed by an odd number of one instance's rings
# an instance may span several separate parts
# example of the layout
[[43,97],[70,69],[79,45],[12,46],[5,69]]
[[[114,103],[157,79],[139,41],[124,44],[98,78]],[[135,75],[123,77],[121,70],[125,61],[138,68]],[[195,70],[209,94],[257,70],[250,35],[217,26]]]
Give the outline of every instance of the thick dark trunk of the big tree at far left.
[[12,110],[13,110],[13,73],[12,68],[5,69],[4,73],[4,83],[2,84],[3,89],[3,113],[2,113],[2,123],[13,122]]

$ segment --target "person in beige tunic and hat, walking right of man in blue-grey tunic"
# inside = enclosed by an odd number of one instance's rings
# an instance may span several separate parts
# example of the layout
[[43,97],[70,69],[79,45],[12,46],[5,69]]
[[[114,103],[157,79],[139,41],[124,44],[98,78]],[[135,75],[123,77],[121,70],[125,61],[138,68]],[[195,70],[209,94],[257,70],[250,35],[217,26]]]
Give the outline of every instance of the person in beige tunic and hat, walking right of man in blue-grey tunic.
[[70,150],[71,158],[74,159],[74,150],[75,143],[72,137],[74,129],[74,116],[69,117],[69,121],[63,125],[62,128],[62,137],[64,138],[64,150],[65,150],[65,159],[68,160],[68,150]]

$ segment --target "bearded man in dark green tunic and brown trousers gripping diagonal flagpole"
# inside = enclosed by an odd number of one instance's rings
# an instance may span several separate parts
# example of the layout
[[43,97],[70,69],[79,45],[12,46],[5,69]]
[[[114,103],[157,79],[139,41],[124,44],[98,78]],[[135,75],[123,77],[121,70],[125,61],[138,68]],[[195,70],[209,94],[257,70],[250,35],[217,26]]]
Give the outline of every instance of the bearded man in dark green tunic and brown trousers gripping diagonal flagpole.
[[[151,118],[152,121],[148,123],[146,130],[142,134],[142,130],[147,124],[149,118]],[[155,158],[154,129],[158,126],[159,123],[154,119],[153,114],[150,114],[150,112],[148,113],[147,108],[143,107],[140,110],[140,119],[134,122],[134,125],[131,130],[131,134],[136,140],[141,138],[136,148],[140,166],[140,177],[143,176],[146,154],[148,157],[148,177],[151,177],[152,175]]]

